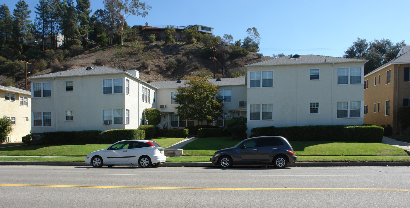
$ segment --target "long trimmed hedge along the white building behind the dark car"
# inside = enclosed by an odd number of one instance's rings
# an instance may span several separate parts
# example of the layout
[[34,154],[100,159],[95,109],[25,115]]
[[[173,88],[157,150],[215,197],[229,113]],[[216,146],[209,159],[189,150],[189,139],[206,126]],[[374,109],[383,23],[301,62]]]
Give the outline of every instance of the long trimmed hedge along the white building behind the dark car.
[[253,128],[251,137],[278,135],[289,141],[381,142],[383,132],[383,128],[376,125],[266,126]]

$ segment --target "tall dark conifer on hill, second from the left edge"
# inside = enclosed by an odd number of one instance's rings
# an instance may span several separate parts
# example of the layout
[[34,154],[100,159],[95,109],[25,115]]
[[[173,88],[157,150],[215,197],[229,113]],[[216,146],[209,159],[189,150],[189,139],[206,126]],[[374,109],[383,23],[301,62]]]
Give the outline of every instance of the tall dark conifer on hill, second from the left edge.
[[15,40],[19,49],[23,53],[25,39],[30,36],[30,18],[31,10],[24,0],[19,0],[16,9],[13,10]]

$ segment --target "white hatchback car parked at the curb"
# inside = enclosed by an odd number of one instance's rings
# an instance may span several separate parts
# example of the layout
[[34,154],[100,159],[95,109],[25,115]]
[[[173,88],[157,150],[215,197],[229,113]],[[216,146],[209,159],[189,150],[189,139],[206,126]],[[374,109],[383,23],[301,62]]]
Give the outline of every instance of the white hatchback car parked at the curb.
[[164,148],[157,142],[148,140],[122,140],[106,149],[89,153],[85,163],[93,167],[107,165],[139,165],[141,167],[157,167],[166,161]]

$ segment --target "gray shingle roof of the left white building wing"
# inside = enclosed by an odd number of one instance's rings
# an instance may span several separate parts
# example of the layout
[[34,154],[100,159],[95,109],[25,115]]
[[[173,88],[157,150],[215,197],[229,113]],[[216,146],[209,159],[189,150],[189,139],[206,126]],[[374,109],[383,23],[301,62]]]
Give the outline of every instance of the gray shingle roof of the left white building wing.
[[96,66],[96,69],[92,67],[91,70],[87,70],[87,67],[83,67],[83,68],[71,69],[67,71],[32,76],[29,79],[79,76],[79,75],[97,75],[97,74],[107,74],[107,73],[125,73],[125,71],[116,69],[116,68],[111,68],[108,66]]

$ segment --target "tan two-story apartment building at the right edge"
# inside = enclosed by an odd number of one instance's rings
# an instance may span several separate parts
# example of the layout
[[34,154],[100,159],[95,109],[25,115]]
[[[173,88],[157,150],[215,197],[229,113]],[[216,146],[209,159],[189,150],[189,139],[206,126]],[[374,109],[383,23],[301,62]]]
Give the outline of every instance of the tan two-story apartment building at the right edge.
[[[410,46],[403,46],[396,58],[364,76],[364,123],[392,126],[401,132],[397,108],[410,104]],[[410,129],[404,134],[409,134]]]

